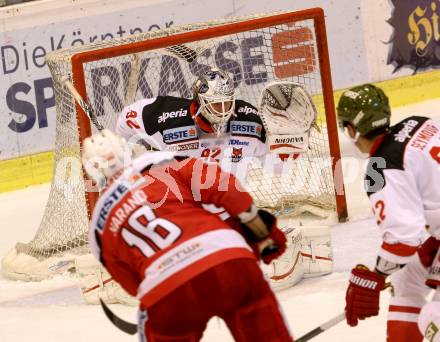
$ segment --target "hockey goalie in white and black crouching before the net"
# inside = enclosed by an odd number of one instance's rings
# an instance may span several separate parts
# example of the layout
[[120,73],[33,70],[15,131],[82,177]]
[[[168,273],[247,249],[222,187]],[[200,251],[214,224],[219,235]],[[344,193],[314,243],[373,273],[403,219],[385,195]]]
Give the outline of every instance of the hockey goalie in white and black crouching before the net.
[[[301,85],[268,84],[262,91],[259,109],[236,98],[232,79],[220,69],[210,69],[198,77],[192,91],[192,99],[158,96],[125,107],[116,133],[137,153],[139,146],[143,146],[218,162],[243,183],[252,163],[282,173],[285,165],[295,163],[301,153],[308,151],[308,138],[317,114],[310,95]],[[230,217],[224,208],[204,208],[223,220]],[[328,228],[308,230],[287,224],[283,229],[288,236],[288,250],[265,268],[274,288],[290,287],[304,274],[331,272]],[[109,275],[90,257],[80,258],[77,270],[83,276],[82,291],[88,301],[96,302],[96,293],[100,292],[106,292],[108,299],[114,297],[113,292],[116,297],[120,295],[117,286],[106,282]]]

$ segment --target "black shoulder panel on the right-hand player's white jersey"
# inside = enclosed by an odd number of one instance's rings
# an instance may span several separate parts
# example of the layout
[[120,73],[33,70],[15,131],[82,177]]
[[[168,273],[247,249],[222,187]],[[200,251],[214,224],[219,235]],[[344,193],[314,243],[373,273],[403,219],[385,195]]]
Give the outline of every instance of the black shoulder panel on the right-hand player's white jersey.
[[[390,128],[379,147],[368,161],[365,175],[368,196],[383,189],[386,185],[384,170],[404,170],[404,157],[408,142],[417,130],[429,120],[423,116],[408,117]],[[382,186],[378,187],[373,175],[380,175]],[[374,190],[373,190],[374,189]]]

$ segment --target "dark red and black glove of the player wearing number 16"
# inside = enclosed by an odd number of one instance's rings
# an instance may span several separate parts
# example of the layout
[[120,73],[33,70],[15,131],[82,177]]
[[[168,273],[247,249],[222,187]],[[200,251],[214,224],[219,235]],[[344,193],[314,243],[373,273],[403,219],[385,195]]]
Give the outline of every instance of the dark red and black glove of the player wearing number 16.
[[258,260],[270,264],[286,250],[286,237],[276,225],[276,217],[271,213],[258,210],[254,205],[248,212],[239,215],[243,224],[246,240]]

